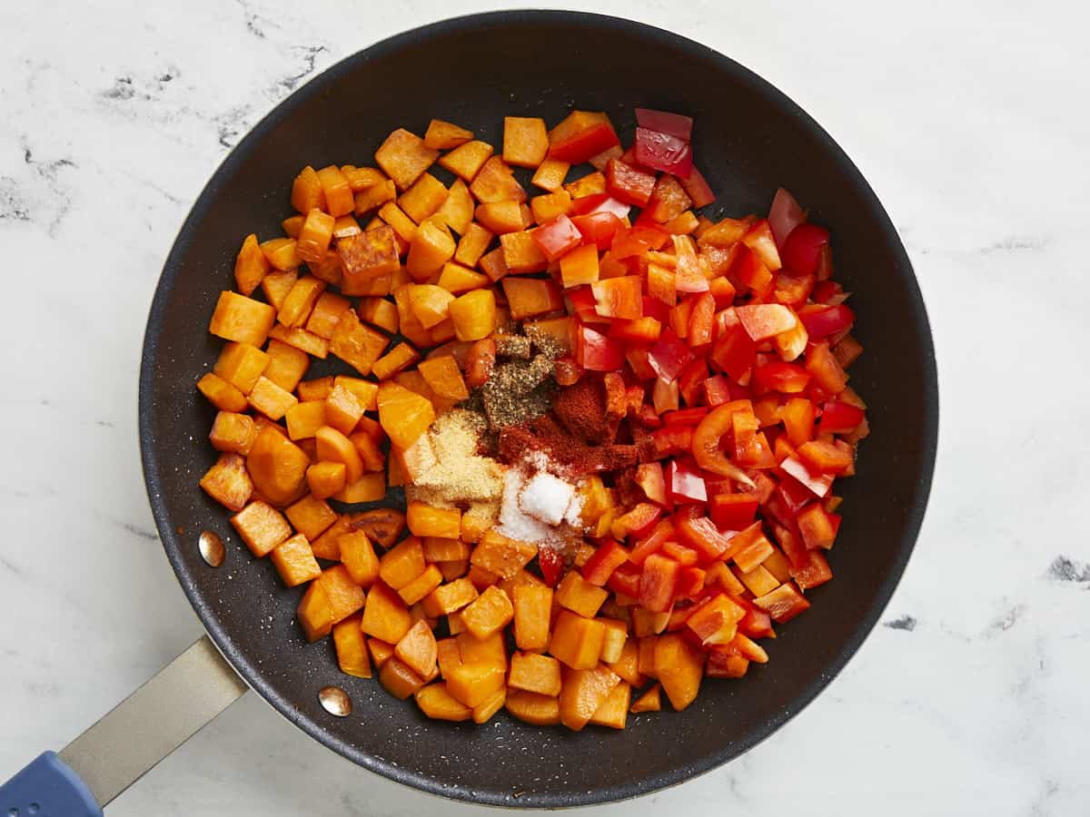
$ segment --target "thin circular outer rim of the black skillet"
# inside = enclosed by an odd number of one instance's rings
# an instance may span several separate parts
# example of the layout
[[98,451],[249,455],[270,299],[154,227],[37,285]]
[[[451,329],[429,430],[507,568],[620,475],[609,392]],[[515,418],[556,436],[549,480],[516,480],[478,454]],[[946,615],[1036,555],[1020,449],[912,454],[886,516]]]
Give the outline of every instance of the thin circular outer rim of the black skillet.
[[[221,186],[230,180],[237,172],[239,166],[250,150],[259,143],[276,125],[289,117],[292,111],[305,100],[322,92],[323,88],[339,80],[343,74],[354,71],[360,64],[371,59],[390,54],[408,46],[419,45],[422,39],[440,37],[461,32],[492,25],[526,24],[526,23],[564,23],[572,26],[582,26],[593,31],[613,29],[621,33],[639,32],[640,36],[674,48],[680,48],[697,53],[704,59],[716,63],[726,74],[736,82],[749,86],[755,93],[766,97],[771,102],[788,112],[798,120],[800,125],[820,143],[827,151],[831,161],[843,174],[845,184],[851,185],[867,203],[868,208],[874,214],[881,224],[881,239],[894,249],[895,255],[899,255],[900,263],[897,265],[896,273],[904,279],[904,283],[909,291],[913,324],[918,329],[918,345],[921,354],[921,368],[923,374],[924,389],[922,397],[922,436],[920,440],[921,465],[918,474],[916,496],[912,507],[907,514],[906,525],[900,537],[900,546],[893,560],[892,568],[885,580],[879,585],[875,592],[875,600],[868,612],[861,617],[852,635],[847,638],[832,659],[827,662],[824,671],[810,685],[802,690],[788,706],[770,719],[759,730],[752,734],[743,736],[716,752],[710,752],[700,760],[691,763],[686,767],[665,771],[655,776],[649,776],[634,782],[609,785],[601,789],[593,789],[571,794],[557,794],[545,792],[543,794],[530,795],[521,800],[512,800],[510,792],[500,790],[482,790],[467,785],[444,785],[440,781],[416,773],[412,770],[391,764],[387,760],[376,758],[368,753],[349,745],[343,741],[328,734],[319,723],[312,720],[302,711],[292,706],[291,702],[281,697],[271,684],[264,678],[254,662],[244,655],[231,635],[219,624],[206,603],[201,590],[196,587],[193,576],[181,556],[179,538],[170,526],[169,514],[164,502],[158,472],[160,460],[158,449],[153,439],[153,398],[156,380],[156,359],[158,353],[159,337],[164,316],[170,294],[177,282],[183,258],[186,256],[195,236],[196,229],[204,218],[205,212],[210,207],[211,202],[219,195]],[[476,14],[467,14],[457,17],[441,20],[416,28],[412,28],[400,34],[375,42],[361,49],[334,65],[326,69],[320,74],[311,78],[307,83],[299,87],[290,96],[275,106],[262,120],[254,125],[249,133],[240,139],[238,145],[228,154],[222,162],[216,168],[208,182],[201,191],[193,204],[189,215],[183,222],[181,230],[171,246],[170,253],[164,264],[159,282],[156,285],[155,296],[148,314],[147,328],[144,336],[144,345],[141,361],[141,375],[138,388],[138,430],[141,444],[141,460],[144,468],[145,484],[148,500],[152,507],[153,516],[159,532],[167,558],[170,561],[182,590],[185,593],[193,606],[194,611],[201,619],[202,624],[208,632],[217,648],[231,663],[235,671],[254,688],[269,705],[280,712],[294,725],[302,729],[307,735],[317,740],[328,748],[347,757],[353,763],[382,775],[383,777],[412,786],[420,791],[437,796],[449,797],[479,805],[493,805],[506,807],[572,807],[602,804],[649,794],[668,786],[690,780],[699,775],[703,775],[717,768],[729,760],[732,760],[749,752],[756,744],[776,732],[791,718],[809,706],[814,698],[832,683],[848,661],[858,653],[862,643],[867,639],[886,606],[893,596],[905,566],[915,548],[920,528],[923,524],[928,500],[931,491],[932,477],[935,466],[935,458],[938,440],[938,386],[937,371],[934,354],[934,342],[931,333],[930,321],[928,320],[923,296],[919,288],[912,265],[908,258],[904,244],[900,241],[893,223],[882,206],[874,191],[863,178],[862,173],[845,154],[839,145],[828,135],[828,133],[818,122],[802,110],[796,102],[788,98],[783,92],[777,89],[767,81],[760,77],[744,65],[726,57],[725,54],[708,48],[695,40],[689,39],[678,34],[667,32],[656,26],[641,23],[625,17],[617,17],[604,14],[593,14],[586,12],[573,12],[561,10],[519,10],[519,11],[494,11]]]

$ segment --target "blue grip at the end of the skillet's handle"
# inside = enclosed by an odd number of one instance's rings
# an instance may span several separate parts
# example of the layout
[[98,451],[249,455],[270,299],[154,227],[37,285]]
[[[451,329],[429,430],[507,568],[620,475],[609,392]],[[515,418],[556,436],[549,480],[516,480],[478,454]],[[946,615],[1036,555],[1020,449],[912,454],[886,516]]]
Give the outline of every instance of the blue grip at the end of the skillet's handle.
[[87,784],[56,752],[44,752],[0,785],[2,817],[102,817]]

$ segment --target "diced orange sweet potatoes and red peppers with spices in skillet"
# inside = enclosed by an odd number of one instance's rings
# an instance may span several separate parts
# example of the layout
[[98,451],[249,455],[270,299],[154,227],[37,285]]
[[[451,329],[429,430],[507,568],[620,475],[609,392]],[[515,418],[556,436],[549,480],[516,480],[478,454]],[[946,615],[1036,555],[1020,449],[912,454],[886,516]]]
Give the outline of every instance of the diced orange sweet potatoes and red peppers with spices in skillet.
[[[627,149],[573,111],[304,168],[213,315],[202,488],[306,585],[307,639],[428,717],[682,709],[832,578],[869,429],[828,231],[784,190],[699,215],[692,120],[637,119]],[[398,485],[404,512],[359,512]]]

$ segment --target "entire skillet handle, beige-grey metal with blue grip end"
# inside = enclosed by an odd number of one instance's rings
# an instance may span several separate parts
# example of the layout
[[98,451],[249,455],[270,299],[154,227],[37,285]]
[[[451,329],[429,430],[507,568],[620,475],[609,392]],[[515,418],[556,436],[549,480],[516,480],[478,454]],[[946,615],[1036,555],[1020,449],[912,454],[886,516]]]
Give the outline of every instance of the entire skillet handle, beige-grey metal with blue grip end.
[[100,817],[99,806],[245,691],[208,636],[202,637],[59,754],[40,755],[0,786],[0,815]]

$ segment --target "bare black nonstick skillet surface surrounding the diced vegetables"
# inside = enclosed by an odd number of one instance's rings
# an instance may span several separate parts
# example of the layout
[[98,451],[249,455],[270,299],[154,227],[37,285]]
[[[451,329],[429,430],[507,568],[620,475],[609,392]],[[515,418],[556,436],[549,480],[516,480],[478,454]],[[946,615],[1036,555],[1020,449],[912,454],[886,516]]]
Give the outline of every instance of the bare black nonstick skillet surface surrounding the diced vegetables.
[[[519,54],[511,59],[507,54]],[[846,480],[836,581],[779,629],[772,657],[747,678],[707,682],[680,714],[630,720],[623,732],[573,734],[497,717],[484,728],[424,719],[374,681],[342,675],[328,642],[306,645],[301,589],[238,542],[227,514],[196,487],[214,461],[214,410],[193,388],[220,341],[207,322],[246,233],[279,233],[304,164],[372,163],[383,137],[422,133],[432,117],[499,144],[505,114],[553,124],[572,107],[606,110],[630,139],[633,108],[695,117],[698,162],[724,215],[766,211],[784,185],[834,234],[837,278],[852,291],[867,352],[852,385],[873,434]],[[880,371],[882,373],[880,376]],[[937,432],[933,350],[911,266],[850,160],[762,80],[700,45],[629,21],[570,12],[500,12],[446,21],[337,64],[274,110],[228,157],[167,260],[141,374],[145,475],[160,537],[213,638],[282,715],[355,763],[416,788],[476,803],[562,807],[645,793],[729,760],[798,712],[841,669],[900,577],[927,502]],[[234,546],[201,560],[210,528]],[[335,719],[316,693],[337,683],[354,714]]]

